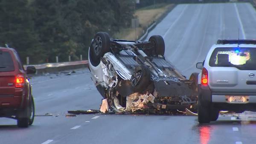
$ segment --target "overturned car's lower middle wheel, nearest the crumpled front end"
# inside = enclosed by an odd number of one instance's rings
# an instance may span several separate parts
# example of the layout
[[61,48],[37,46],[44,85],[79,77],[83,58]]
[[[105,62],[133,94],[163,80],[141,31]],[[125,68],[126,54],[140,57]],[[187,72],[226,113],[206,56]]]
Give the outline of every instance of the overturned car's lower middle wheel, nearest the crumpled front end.
[[143,93],[150,84],[150,70],[148,66],[140,65],[135,68],[131,76],[131,87],[134,92]]

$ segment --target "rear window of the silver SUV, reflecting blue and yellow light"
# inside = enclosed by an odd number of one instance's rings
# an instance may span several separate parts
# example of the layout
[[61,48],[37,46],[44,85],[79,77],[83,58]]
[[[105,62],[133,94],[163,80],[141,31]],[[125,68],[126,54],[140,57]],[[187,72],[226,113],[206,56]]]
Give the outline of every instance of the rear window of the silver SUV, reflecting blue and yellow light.
[[256,70],[256,48],[216,48],[212,52],[209,66]]

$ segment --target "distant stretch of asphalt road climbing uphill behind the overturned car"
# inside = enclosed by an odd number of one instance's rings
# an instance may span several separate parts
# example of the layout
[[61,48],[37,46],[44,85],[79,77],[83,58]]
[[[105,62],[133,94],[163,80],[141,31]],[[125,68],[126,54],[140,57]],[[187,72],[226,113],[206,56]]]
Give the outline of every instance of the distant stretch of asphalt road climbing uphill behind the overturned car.
[[176,6],[151,32],[163,36],[166,58],[189,78],[218,39],[255,39],[256,11],[250,3]]

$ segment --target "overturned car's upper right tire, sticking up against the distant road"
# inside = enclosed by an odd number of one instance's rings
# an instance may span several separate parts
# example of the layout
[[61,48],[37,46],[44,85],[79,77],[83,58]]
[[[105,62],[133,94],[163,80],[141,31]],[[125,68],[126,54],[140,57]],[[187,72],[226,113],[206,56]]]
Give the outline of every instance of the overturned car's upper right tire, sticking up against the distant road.
[[165,43],[163,40],[163,37],[161,37],[160,35],[152,35],[149,40],[150,42],[154,43],[154,48],[151,51],[152,53],[149,54],[149,56],[151,55],[164,55],[165,52]]

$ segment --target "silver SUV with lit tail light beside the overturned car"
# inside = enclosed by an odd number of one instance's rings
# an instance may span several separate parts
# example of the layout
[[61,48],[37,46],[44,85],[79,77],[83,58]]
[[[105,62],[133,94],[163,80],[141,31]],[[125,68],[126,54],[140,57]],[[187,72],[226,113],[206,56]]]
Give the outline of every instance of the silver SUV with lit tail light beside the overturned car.
[[218,119],[220,110],[256,111],[256,40],[218,40],[198,75],[198,122]]

